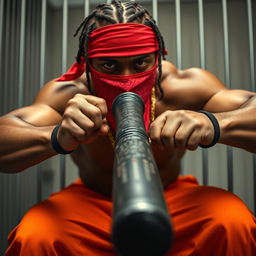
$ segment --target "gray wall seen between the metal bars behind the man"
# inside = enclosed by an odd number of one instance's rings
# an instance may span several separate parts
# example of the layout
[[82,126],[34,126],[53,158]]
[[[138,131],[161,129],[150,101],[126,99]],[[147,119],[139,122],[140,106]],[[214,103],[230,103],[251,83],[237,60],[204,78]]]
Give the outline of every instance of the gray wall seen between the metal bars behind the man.
[[[25,22],[23,91],[18,90],[20,60],[20,10],[22,1],[0,0],[1,68],[0,68],[0,113],[4,114],[22,104],[30,104],[40,87],[40,31],[41,2],[27,0]],[[69,1],[70,3],[72,1]],[[94,1],[91,1],[94,2]],[[103,2],[103,1],[101,1]],[[159,1],[160,2],[160,1]],[[200,66],[199,25],[197,1],[181,1],[181,53],[182,68]],[[256,13],[256,3],[253,13]],[[151,4],[145,6],[152,10]],[[91,5],[91,8],[93,6]],[[78,38],[73,32],[84,16],[84,8],[70,6],[68,12],[68,65],[74,61]],[[158,6],[159,26],[164,35],[167,59],[177,64],[176,13],[174,1],[165,1]],[[206,69],[225,81],[224,38],[221,1],[204,1]],[[254,42],[256,17],[254,22]],[[245,0],[228,1],[228,28],[230,47],[231,88],[250,89],[248,16]],[[254,49],[255,49],[254,45]],[[46,65],[44,80],[61,75],[62,67],[62,9],[47,4]],[[234,193],[240,196],[253,210],[253,164],[252,154],[233,149]],[[209,185],[227,189],[227,148],[223,145],[208,150]],[[18,223],[24,212],[35,204],[39,197],[47,198],[60,189],[60,161],[54,157],[21,174],[0,174],[0,254],[6,247],[8,232]],[[202,150],[188,152],[183,162],[183,173],[195,175],[203,182]],[[66,184],[77,178],[77,169],[66,158]],[[2,250],[2,251],[1,251]]]

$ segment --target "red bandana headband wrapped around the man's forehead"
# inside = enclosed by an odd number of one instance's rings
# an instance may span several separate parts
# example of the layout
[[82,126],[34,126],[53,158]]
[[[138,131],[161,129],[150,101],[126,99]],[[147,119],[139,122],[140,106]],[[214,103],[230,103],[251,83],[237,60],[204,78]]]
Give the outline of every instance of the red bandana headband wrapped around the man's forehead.
[[90,34],[88,57],[125,57],[158,50],[158,41],[151,27],[120,23],[97,28]]

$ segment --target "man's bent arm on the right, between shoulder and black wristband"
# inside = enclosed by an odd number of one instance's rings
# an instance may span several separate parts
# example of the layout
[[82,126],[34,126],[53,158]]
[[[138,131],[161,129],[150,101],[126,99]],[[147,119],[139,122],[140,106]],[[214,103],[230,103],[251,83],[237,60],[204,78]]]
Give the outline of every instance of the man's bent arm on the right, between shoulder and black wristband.
[[216,93],[204,106],[221,129],[219,143],[256,153],[256,95],[241,90]]

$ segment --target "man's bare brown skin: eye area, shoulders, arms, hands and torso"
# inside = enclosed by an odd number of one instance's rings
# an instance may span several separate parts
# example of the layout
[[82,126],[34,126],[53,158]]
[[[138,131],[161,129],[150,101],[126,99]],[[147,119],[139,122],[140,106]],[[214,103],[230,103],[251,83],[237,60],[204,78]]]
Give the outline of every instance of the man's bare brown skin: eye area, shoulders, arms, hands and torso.
[[[91,61],[104,73],[129,75],[150,69],[155,54]],[[178,70],[163,61],[160,100],[157,90],[156,119],[149,137],[164,186],[180,171],[186,150],[211,143],[214,130],[210,120],[197,110],[214,113],[219,121],[219,143],[256,152],[256,94],[229,90],[213,74],[198,68]],[[50,81],[30,106],[0,118],[0,166],[3,172],[19,172],[56,152],[51,132],[60,124],[58,141],[72,157],[87,186],[110,196],[114,151],[108,138],[106,102],[90,95],[83,74],[68,82]]]

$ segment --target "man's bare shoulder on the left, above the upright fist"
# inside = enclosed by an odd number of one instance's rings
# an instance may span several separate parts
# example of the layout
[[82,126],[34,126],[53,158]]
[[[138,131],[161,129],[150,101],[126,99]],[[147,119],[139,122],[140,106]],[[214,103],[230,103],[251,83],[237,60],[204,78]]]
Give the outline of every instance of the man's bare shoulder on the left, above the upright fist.
[[76,80],[57,81],[53,79],[45,84],[37,94],[33,104],[44,104],[62,114],[66,103],[76,94],[89,94],[85,75]]

